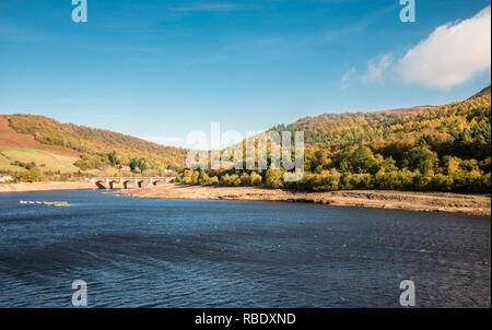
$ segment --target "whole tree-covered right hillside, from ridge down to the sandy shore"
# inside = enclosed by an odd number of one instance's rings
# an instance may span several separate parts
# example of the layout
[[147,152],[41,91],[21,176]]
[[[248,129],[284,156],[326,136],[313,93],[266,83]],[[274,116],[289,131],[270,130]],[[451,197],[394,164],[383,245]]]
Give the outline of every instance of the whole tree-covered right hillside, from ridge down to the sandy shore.
[[[315,191],[490,192],[490,87],[443,106],[305,117],[271,129],[291,131],[292,137],[295,131],[304,131],[305,175],[297,182],[283,181],[278,169],[188,170],[177,180]],[[243,152],[244,148],[245,142]]]

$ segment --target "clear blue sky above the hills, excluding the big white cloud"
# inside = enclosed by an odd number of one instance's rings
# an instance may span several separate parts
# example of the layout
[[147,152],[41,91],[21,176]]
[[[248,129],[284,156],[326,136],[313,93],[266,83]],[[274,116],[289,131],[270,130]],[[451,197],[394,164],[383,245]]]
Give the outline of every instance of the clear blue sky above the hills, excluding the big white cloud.
[[[456,61],[473,61],[452,85],[446,63],[432,67],[441,44],[409,50],[490,1],[415,4],[417,22],[402,23],[398,0],[87,0],[87,23],[75,24],[71,0],[0,0],[0,114],[183,145],[178,138],[211,121],[260,131],[328,111],[444,104],[489,85],[490,50],[470,60],[473,49],[450,45]],[[482,25],[467,26],[456,28]],[[480,37],[490,49],[490,31]],[[431,68],[413,76],[419,61]]]

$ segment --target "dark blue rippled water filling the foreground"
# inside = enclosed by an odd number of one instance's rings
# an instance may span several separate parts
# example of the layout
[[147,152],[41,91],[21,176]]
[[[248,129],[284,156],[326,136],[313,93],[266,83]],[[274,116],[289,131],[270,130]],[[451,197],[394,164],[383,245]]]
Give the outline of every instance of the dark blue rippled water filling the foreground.
[[0,307],[490,307],[488,217],[51,191],[1,193],[0,237]]

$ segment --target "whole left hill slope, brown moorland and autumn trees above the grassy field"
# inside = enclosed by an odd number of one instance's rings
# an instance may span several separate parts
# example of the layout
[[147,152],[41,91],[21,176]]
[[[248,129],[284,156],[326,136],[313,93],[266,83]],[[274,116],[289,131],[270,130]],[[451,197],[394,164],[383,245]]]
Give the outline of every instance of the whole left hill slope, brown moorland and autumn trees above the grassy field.
[[80,170],[114,168],[114,173],[120,166],[130,166],[137,174],[159,175],[166,168],[185,165],[185,149],[163,146],[109,130],[61,123],[34,115],[0,116],[0,146],[78,157],[74,165]]

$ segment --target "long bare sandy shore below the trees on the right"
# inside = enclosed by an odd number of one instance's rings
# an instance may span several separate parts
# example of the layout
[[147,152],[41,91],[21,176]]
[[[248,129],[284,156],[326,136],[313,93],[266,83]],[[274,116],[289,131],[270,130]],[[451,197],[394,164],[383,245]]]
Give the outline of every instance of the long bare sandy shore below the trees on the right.
[[118,193],[139,198],[313,202],[337,207],[459,212],[473,215],[491,215],[490,195],[384,190],[298,192],[253,187],[202,187],[178,186],[173,184],[120,190]]

